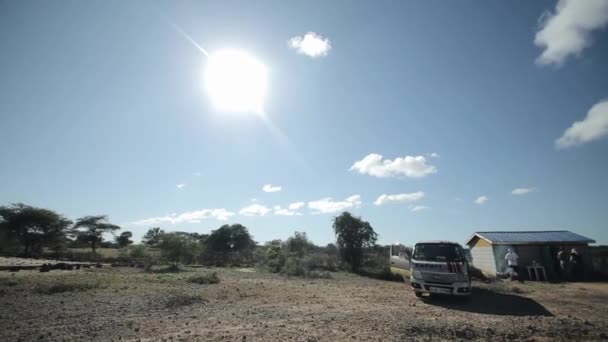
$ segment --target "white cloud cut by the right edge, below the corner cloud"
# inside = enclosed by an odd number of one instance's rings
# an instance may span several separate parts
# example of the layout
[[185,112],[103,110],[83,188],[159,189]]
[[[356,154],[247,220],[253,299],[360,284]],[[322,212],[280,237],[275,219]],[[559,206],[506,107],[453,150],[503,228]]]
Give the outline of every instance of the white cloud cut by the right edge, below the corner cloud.
[[591,107],[583,121],[568,127],[564,134],[555,140],[558,149],[581,145],[608,136],[608,100]]

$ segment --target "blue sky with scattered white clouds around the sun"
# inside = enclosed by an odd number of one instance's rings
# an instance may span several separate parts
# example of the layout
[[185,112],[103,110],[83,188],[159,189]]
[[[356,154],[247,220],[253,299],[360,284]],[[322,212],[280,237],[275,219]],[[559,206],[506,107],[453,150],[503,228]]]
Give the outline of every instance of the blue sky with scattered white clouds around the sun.
[[[0,1],[0,205],[136,240],[327,244],[348,210],[383,244],[608,244],[607,23],[606,0]],[[263,65],[259,108],[218,106],[218,51]]]

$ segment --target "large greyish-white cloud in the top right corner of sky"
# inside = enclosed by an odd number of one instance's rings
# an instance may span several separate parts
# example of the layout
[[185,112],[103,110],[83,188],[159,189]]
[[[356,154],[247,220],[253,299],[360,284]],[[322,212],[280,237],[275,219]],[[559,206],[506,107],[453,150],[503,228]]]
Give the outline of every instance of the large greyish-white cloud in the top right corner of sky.
[[555,12],[540,18],[534,44],[544,49],[536,59],[541,65],[561,65],[571,55],[591,46],[591,32],[608,23],[606,0],[560,0]]

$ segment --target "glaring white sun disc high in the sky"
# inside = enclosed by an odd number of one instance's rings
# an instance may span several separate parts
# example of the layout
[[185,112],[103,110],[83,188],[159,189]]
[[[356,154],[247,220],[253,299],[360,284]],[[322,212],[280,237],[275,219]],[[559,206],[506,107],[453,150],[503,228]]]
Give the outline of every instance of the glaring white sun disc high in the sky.
[[208,57],[205,91],[219,111],[262,114],[266,82],[264,64],[243,51],[221,50]]

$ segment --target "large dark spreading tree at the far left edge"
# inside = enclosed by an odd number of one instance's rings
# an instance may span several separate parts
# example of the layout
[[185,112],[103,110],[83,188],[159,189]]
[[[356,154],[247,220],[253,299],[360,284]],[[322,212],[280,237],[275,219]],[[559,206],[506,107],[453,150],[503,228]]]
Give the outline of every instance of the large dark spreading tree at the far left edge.
[[[0,207],[0,232],[3,241],[17,241],[23,255],[40,253],[43,247],[63,244],[72,222],[62,215],[23,203]],[[6,239],[6,240],[4,240]]]

